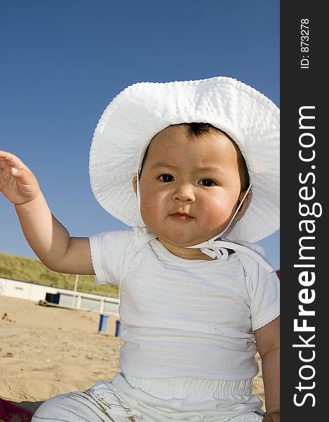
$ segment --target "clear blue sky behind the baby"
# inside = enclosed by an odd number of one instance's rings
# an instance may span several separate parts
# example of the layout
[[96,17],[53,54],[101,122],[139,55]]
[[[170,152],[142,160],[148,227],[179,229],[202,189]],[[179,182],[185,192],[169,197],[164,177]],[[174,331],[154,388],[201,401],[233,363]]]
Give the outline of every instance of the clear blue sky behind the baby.
[[[72,236],[127,228],[90,189],[107,104],[134,82],[230,76],[279,104],[277,0],[0,0],[0,149],[36,174]],[[260,242],[275,269],[279,231]],[[35,257],[0,196],[0,252]]]

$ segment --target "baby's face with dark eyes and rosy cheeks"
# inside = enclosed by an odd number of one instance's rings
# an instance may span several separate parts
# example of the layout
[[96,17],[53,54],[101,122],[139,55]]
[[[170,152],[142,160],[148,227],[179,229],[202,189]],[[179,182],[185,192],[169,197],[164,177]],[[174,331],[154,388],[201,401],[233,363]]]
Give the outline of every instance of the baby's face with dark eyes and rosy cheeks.
[[240,196],[236,147],[227,136],[196,137],[184,126],[154,136],[140,177],[140,211],[161,243],[184,247],[220,234]]

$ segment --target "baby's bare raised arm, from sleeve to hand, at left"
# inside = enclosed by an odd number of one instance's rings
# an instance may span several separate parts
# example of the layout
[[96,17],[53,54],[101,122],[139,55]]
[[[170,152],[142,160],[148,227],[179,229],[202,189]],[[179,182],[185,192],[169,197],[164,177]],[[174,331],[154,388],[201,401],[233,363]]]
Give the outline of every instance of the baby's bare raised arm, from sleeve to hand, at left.
[[0,151],[0,191],[15,205],[27,242],[46,267],[68,274],[94,274],[88,238],[69,236],[51,214],[31,170],[5,151]]

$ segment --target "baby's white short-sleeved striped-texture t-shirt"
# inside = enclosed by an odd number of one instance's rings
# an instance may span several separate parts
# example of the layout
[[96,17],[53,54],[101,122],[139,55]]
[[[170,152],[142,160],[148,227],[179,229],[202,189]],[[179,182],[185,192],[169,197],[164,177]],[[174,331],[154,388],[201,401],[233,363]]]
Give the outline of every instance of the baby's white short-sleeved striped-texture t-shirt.
[[121,371],[135,378],[253,378],[254,331],[279,315],[279,281],[245,252],[185,260],[147,231],[90,238],[98,283],[120,290]]

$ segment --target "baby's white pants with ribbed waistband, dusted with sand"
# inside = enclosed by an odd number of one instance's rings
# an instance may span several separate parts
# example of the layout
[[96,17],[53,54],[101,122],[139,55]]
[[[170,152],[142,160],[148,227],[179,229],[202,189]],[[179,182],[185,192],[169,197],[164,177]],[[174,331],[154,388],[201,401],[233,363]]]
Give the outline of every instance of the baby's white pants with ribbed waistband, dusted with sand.
[[260,422],[253,380],[142,379],[117,373],[88,390],[46,400],[32,422]]

